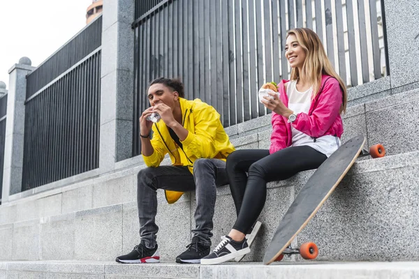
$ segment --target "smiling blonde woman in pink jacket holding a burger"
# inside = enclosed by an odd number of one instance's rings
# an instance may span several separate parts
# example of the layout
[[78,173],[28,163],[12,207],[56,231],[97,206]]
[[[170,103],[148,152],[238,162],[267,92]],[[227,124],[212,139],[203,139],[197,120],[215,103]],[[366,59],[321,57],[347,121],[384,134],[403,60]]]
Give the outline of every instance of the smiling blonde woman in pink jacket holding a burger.
[[253,238],[260,227],[256,220],[265,205],[267,182],[316,169],[339,148],[346,86],[321,40],[310,29],[293,29],[287,33],[285,50],[291,80],[282,80],[278,92],[260,98],[272,110],[270,149],[238,150],[228,156],[226,168],[237,220],[201,264],[239,260],[249,253],[253,239],[246,234],[252,232]]

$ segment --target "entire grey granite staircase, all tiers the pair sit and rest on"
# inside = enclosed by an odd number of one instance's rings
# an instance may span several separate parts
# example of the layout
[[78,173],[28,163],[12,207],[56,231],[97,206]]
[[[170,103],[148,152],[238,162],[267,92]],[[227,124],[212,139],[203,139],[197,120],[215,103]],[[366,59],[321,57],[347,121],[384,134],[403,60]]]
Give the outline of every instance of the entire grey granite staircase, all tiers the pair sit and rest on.
[[[145,167],[140,162],[2,204],[0,261],[4,262],[0,262],[0,278],[256,278],[257,274],[270,278],[285,278],[281,276],[287,274],[320,278],[326,274],[329,277],[321,278],[337,278],[339,271],[345,271],[339,278],[416,278],[417,263],[409,262],[419,260],[419,90],[365,102],[348,107],[342,142],[362,133],[368,145],[381,143],[388,155],[359,159],[297,236],[295,246],[305,241],[318,244],[320,253],[314,262],[293,256],[274,266],[173,264],[191,240],[196,200],[191,193],[169,205],[163,191],[158,195],[156,221],[165,263],[127,266],[105,262],[131,251],[140,240],[135,202],[136,174]],[[270,116],[226,130],[238,149],[266,149]],[[269,183],[260,215],[263,228],[244,262],[261,261],[279,220],[313,172]],[[234,220],[230,190],[221,187],[214,216],[214,245],[229,232]],[[23,260],[37,262],[19,262]],[[351,261],[378,263],[345,263]]]

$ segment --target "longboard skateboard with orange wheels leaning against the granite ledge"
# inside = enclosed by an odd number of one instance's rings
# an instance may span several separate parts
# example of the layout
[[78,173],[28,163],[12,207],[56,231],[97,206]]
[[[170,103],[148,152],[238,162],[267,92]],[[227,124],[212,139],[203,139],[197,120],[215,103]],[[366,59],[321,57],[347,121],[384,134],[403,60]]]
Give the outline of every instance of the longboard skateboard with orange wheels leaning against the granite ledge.
[[291,242],[321,208],[358,157],[385,156],[385,149],[381,144],[371,146],[369,151],[363,149],[364,144],[364,135],[353,137],[316,169],[279,223],[263,257],[264,264],[280,261],[284,255],[291,254],[300,254],[304,259],[317,257],[318,248],[315,243],[304,243],[297,249],[291,247]]

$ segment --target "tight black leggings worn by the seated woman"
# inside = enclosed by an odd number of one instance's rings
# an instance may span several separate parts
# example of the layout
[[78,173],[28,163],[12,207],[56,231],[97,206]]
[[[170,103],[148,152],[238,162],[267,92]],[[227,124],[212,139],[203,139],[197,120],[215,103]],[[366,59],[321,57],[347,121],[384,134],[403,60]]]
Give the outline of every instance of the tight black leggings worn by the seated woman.
[[326,159],[323,153],[310,146],[292,146],[273,154],[265,149],[242,149],[231,153],[226,168],[237,211],[233,229],[246,234],[256,222],[265,205],[267,182],[316,169]]

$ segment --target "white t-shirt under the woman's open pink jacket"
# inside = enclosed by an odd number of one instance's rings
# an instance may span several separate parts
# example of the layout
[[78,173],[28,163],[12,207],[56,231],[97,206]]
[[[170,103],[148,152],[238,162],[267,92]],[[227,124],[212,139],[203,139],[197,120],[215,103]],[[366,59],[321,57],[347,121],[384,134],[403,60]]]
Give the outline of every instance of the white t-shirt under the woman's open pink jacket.
[[[300,92],[297,91],[296,84],[297,81],[295,80],[288,82],[286,90],[286,94],[288,96],[288,108],[292,110],[294,114],[302,112],[308,114],[311,106],[311,94],[313,89],[310,87],[307,91]],[[339,137],[335,137],[333,135],[323,135],[322,137],[314,139],[295,129],[293,125],[291,125],[291,133],[293,134],[292,146],[308,145],[328,157],[332,155],[332,153],[335,152],[341,144]]]

